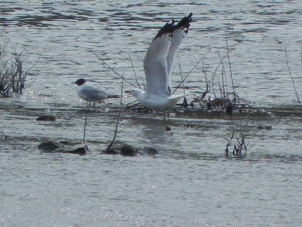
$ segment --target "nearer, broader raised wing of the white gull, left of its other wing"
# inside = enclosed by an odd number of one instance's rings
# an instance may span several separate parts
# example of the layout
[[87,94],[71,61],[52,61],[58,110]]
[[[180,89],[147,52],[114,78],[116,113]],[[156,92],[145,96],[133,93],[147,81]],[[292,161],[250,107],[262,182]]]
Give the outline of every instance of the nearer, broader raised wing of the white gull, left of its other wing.
[[146,94],[160,96],[167,96],[169,94],[167,54],[171,44],[173,24],[174,21],[167,23],[158,32],[143,60],[146,76]]

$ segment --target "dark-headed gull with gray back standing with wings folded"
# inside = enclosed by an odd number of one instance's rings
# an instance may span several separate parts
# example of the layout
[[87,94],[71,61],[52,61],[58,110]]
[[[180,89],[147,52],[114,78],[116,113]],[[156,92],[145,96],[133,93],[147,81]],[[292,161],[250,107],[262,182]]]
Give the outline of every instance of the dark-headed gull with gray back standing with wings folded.
[[77,93],[79,97],[84,99],[85,101],[89,101],[89,106],[90,102],[93,102],[93,108],[95,107],[96,102],[101,102],[107,98],[119,98],[118,95],[107,94],[106,92],[100,90],[98,87],[87,84],[86,80],[83,78],[80,78],[71,84],[78,85]]

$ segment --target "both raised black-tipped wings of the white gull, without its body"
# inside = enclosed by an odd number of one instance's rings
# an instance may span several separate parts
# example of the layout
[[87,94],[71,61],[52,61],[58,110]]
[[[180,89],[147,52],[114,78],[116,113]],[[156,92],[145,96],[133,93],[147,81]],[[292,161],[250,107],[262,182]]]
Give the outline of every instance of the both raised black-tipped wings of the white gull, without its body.
[[191,17],[192,13],[184,17],[176,26],[174,26],[174,20],[172,23],[167,23],[150,44],[143,61],[146,94],[160,96],[172,94],[171,76],[174,58],[188,32]]

